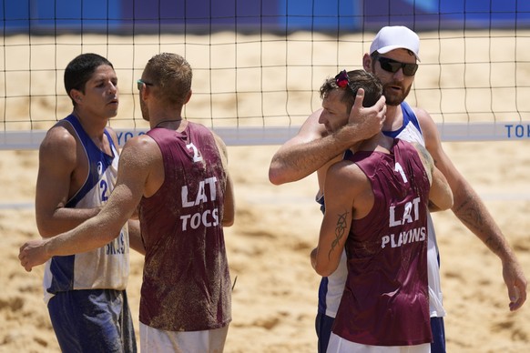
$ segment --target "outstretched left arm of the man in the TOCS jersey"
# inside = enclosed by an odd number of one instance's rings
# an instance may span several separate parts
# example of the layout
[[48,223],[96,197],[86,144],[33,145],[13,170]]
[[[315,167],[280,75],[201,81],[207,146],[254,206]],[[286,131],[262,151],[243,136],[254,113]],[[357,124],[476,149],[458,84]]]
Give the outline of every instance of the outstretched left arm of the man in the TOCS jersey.
[[159,150],[150,137],[138,136],[127,141],[120,157],[117,185],[107,205],[96,217],[87,219],[66,233],[26,242],[19,254],[25,269],[30,271],[53,256],[72,255],[102,247],[117,237],[121,227],[138,207],[148,176],[152,173],[151,166],[159,162],[153,158],[154,155],[159,158]]

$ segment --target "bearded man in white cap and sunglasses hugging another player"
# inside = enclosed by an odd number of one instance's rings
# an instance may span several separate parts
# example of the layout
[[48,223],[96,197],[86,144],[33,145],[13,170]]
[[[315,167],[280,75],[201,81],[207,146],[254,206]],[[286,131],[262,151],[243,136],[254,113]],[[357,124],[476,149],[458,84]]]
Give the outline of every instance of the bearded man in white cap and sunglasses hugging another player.
[[[330,133],[319,124],[322,109],[314,112],[301,126],[297,136],[280,147],[272,157],[269,170],[270,182],[280,185],[300,180],[317,171],[322,190],[325,173],[336,156],[372,136],[382,126],[383,134],[400,137],[423,144],[435,165],[447,178],[454,194],[454,214],[476,237],[497,255],[503,265],[503,277],[508,290],[509,308],[521,308],[526,299],[526,278],[515,254],[508,245],[493,217],[484,207],[473,187],[455,168],[443,151],[440,135],[432,117],[423,109],[408,106],[404,99],[413,85],[418,69],[420,40],[410,29],[395,25],[386,26],[375,36],[370,53],[362,58],[362,66],[372,72],[383,84],[386,102],[384,118],[374,112],[380,103],[371,108],[362,108],[363,91],[359,89],[352,108],[349,124]],[[358,118],[359,116],[363,118]],[[434,210],[434,209],[432,209]],[[432,222],[429,221],[429,294],[431,325],[433,328],[433,352],[445,351],[445,337],[440,289],[440,274],[437,263],[438,249]],[[342,262],[345,264],[345,261]],[[345,280],[345,266],[339,265],[329,277],[323,277],[319,289],[319,312],[316,319],[319,350],[325,351],[331,332],[334,315],[341,300],[340,288]]]

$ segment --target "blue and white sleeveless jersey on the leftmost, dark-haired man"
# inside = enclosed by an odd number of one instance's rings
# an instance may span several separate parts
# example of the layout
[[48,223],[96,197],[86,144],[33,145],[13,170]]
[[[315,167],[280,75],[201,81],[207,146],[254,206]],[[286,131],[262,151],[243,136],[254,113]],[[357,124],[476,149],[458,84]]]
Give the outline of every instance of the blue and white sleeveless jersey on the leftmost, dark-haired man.
[[[107,130],[112,156],[101,151],[87,135],[76,116],[64,119],[75,130],[85,149],[89,172],[83,187],[66,203],[71,208],[101,207],[107,203],[117,180],[117,148]],[[76,289],[117,289],[127,287],[129,272],[127,224],[118,237],[104,247],[85,253],[52,257],[46,262],[44,292],[46,304],[57,292]]]

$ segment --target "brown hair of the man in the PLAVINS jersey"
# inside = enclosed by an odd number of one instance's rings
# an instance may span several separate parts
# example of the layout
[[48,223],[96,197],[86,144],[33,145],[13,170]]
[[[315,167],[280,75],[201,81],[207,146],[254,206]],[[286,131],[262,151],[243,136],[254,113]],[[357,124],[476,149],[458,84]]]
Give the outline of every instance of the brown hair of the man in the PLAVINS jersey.
[[382,96],[382,83],[372,73],[365,70],[348,71],[348,86],[341,88],[337,86],[335,77],[328,78],[321,86],[321,99],[324,99],[335,89],[342,89],[344,93],[341,102],[346,104],[347,112],[350,114],[352,106],[355,103],[355,96],[359,88],[364,89],[364,99],[362,106],[373,106]]

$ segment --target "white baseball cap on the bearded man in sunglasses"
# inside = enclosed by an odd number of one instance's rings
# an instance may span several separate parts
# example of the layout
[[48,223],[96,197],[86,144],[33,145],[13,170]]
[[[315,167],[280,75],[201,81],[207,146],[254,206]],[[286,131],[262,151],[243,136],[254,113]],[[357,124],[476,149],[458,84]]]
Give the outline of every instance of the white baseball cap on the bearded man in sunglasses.
[[375,51],[385,54],[400,48],[410,50],[420,61],[420,37],[403,25],[387,25],[373,38],[370,54]]

